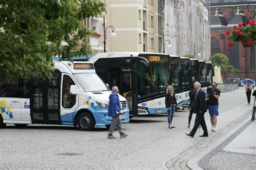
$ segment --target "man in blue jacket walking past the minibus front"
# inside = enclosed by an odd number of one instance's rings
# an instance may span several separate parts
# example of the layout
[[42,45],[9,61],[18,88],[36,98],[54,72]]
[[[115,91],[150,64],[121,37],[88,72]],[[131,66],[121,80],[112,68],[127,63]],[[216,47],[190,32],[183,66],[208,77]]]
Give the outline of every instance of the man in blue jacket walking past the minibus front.
[[114,129],[117,127],[117,130],[120,133],[120,138],[125,138],[128,135],[123,132],[121,120],[118,118],[119,114],[122,114],[120,100],[118,97],[118,87],[112,87],[112,93],[109,96],[109,108],[107,110],[107,114],[112,117],[111,125],[109,128],[109,135],[107,135],[107,139],[115,139],[113,137]]

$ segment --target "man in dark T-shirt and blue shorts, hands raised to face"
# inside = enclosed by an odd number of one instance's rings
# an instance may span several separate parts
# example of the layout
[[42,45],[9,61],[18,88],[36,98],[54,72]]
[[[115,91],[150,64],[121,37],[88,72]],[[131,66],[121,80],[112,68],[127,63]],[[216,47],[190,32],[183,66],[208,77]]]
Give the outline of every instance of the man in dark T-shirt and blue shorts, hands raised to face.
[[219,115],[219,97],[220,90],[217,89],[217,83],[212,82],[212,90],[210,90],[210,92],[207,92],[206,94],[206,98],[208,99],[208,108],[212,124],[212,131],[216,131],[217,116]]

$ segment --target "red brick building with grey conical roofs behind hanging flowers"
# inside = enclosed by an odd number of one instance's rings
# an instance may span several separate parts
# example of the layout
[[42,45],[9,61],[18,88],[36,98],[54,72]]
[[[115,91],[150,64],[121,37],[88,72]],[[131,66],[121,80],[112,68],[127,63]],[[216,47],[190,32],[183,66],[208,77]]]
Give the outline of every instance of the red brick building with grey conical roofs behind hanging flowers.
[[[207,8],[211,13],[211,56],[224,53],[230,59],[230,65],[240,70],[236,77],[256,80],[256,47],[245,48],[240,42],[229,47],[225,36],[226,30],[231,30],[233,25],[255,19],[256,3],[212,3]],[[223,79],[228,77],[232,76],[225,74]]]

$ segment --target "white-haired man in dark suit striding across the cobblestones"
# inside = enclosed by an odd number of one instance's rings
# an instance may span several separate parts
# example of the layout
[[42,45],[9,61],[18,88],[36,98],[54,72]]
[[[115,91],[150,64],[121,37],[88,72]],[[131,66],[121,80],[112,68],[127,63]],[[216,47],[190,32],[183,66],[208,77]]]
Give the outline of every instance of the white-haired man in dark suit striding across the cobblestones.
[[204,133],[203,135],[199,135],[199,137],[208,137],[207,126],[205,124],[204,118],[204,114],[207,111],[205,92],[201,89],[201,84],[197,81],[194,83],[194,89],[197,90],[197,94],[191,108],[193,112],[197,114],[197,116],[196,119],[194,120],[194,127],[192,131],[190,133],[186,133],[186,135],[194,137],[194,134],[197,132],[198,126],[201,125],[201,127],[204,130]]

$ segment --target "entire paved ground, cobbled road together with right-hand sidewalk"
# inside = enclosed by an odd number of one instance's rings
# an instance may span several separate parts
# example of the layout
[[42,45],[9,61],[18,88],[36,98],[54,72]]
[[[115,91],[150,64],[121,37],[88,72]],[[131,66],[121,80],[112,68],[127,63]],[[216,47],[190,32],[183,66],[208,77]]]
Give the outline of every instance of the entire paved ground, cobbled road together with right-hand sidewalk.
[[[218,87],[217,87],[218,88]],[[253,100],[247,104],[244,87],[220,94],[217,131],[201,138],[187,137],[188,110],[177,111],[173,126],[167,115],[139,115],[123,124],[128,138],[107,139],[107,128],[79,131],[77,127],[7,125],[0,130],[1,169],[256,169]]]

